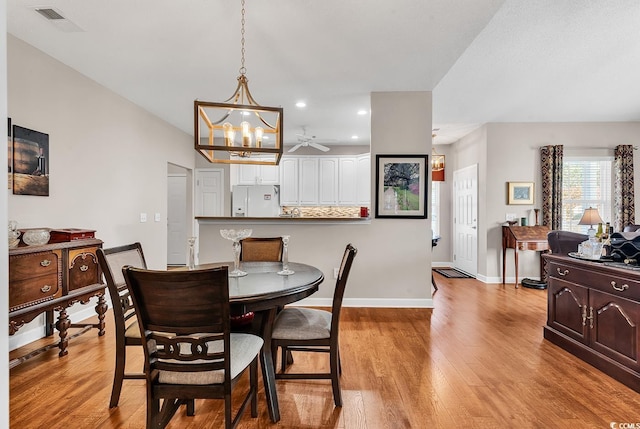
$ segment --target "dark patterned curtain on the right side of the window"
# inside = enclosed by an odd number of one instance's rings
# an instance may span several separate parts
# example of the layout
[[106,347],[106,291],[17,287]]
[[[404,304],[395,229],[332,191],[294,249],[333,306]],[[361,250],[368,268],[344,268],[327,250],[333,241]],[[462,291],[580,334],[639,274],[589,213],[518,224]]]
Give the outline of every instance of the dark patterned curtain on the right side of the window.
[[616,146],[613,168],[613,225],[615,231],[622,231],[627,225],[636,223],[636,209],[633,192],[633,146]]

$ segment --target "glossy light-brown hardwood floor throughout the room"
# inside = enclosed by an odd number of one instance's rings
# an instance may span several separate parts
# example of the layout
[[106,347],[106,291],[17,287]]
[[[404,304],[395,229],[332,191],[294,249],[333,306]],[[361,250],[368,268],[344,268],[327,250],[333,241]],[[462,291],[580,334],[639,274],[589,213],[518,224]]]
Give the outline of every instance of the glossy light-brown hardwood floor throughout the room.
[[[546,291],[438,274],[436,281],[433,310],[343,311],[342,409],[334,408],[327,381],[278,381],[282,420],[270,422],[261,390],[259,417],[247,413],[239,427],[601,429],[640,422],[640,394],[543,339]],[[113,343],[111,331],[102,338],[91,331],[72,340],[64,358],[51,350],[14,368],[11,427],[143,428],[143,381],[125,381],[120,406],[108,408]],[[142,365],[141,354],[135,358],[131,371]],[[296,355],[295,365],[321,367],[325,358]],[[169,427],[222,427],[221,404],[197,401],[196,416],[181,410]]]

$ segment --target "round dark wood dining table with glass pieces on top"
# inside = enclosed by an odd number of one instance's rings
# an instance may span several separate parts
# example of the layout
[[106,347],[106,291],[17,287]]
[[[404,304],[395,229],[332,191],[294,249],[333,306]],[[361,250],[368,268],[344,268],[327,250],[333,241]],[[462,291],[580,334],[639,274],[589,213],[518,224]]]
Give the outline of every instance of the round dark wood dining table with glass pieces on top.
[[[233,262],[215,262],[196,265],[195,269],[204,269],[227,265]],[[240,269],[247,273],[242,277],[229,277],[229,302],[233,314],[253,312],[255,319],[248,325],[248,331],[260,335],[264,345],[260,352],[262,380],[264,383],[267,407],[271,421],[280,420],[278,395],[276,392],[276,374],[271,354],[271,331],[278,308],[300,301],[317,292],[324,281],[322,271],[311,265],[289,262],[293,274],[281,275],[282,262],[241,262]]]

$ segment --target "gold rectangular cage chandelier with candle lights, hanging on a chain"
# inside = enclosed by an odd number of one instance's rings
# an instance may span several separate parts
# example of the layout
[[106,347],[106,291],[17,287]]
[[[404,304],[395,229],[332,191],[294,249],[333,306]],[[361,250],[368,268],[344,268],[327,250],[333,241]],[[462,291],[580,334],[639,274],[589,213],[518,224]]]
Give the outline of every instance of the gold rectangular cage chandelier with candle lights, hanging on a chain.
[[195,100],[195,149],[209,162],[278,165],[282,157],[282,107],[259,105],[244,66],[245,0],[241,14],[241,63],[236,91],[217,103]]

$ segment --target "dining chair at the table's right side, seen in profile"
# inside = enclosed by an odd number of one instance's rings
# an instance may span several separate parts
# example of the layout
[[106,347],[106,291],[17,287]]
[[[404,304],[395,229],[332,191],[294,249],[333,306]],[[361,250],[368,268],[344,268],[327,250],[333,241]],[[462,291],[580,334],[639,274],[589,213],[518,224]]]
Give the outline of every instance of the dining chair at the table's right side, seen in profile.
[[[358,249],[347,244],[338,271],[330,312],[313,308],[285,307],[276,317],[271,334],[273,361],[277,362],[278,348],[281,349],[282,355],[281,372],[276,373],[276,379],[330,379],[333,401],[337,407],[342,406],[340,391],[342,368],[338,341],[340,311],[347,278],[357,252]],[[285,372],[290,362],[287,355],[292,351],[329,353],[330,371],[328,373]]]

